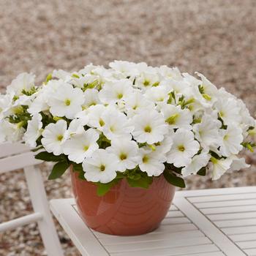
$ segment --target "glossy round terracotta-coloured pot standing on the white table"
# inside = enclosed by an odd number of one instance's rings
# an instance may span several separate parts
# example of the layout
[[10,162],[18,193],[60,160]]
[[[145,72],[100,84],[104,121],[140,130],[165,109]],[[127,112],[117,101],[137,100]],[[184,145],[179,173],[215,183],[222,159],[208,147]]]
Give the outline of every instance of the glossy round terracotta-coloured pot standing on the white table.
[[121,180],[99,197],[97,186],[78,179],[71,170],[72,188],[83,221],[101,233],[135,236],[156,229],[165,218],[175,187],[163,176],[155,177],[148,189],[129,187]]

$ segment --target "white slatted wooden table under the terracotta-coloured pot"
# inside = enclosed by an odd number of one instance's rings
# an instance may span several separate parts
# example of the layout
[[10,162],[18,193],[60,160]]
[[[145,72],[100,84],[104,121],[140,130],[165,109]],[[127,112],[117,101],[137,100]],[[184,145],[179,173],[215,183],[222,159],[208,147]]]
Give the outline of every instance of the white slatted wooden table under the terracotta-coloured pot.
[[162,225],[142,236],[110,236],[89,229],[74,199],[50,201],[81,255],[256,255],[256,187],[176,192]]

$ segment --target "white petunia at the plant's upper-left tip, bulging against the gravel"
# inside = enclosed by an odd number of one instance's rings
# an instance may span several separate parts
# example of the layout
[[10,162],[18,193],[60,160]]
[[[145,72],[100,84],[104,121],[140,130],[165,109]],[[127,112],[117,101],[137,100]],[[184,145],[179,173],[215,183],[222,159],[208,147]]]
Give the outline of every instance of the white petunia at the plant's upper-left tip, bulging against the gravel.
[[29,73],[21,73],[17,78],[12,80],[10,86],[7,87],[7,93],[15,92],[16,96],[20,96],[22,91],[30,91],[34,87],[35,75]]

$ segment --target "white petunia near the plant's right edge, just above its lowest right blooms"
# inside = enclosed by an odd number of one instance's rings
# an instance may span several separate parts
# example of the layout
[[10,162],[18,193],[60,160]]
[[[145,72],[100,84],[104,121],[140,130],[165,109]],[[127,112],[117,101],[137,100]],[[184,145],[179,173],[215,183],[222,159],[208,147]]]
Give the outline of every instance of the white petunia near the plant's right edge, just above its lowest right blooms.
[[243,149],[241,143],[244,140],[242,129],[236,125],[228,125],[227,129],[221,129],[222,143],[219,148],[220,153],[224,157],[229,157],[231,154],[238,154]]

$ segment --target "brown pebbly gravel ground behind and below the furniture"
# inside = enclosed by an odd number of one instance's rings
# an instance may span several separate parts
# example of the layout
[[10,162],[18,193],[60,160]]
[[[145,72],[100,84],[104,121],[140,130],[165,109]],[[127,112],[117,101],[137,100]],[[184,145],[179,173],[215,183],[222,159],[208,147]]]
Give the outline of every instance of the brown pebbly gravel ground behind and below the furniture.
[[[20,72],[42,81],[52,69],[80,69],[113,59],[203,72],[256,113],[256,2],[254,0],[0,0],[0,91]],[[256,184],[249,170],[187,180],[187,189]],[[70,197],[69,176],[46,181],[49,198]],[[0,176],[0,222],[31,212],[22,171]],[[57,225],[65,255],[79,255]],[[36,225],[0,235],[0,255],[45,255]]]

